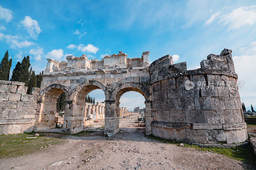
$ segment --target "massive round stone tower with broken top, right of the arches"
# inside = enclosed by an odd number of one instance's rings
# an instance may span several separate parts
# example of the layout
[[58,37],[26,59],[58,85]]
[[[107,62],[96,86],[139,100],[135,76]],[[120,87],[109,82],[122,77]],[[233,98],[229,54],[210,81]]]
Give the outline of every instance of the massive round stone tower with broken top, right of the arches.
[[231,52],[208,55],[196,70],[170,55],[151,63],[154,136],[203,144],[247,139]]

